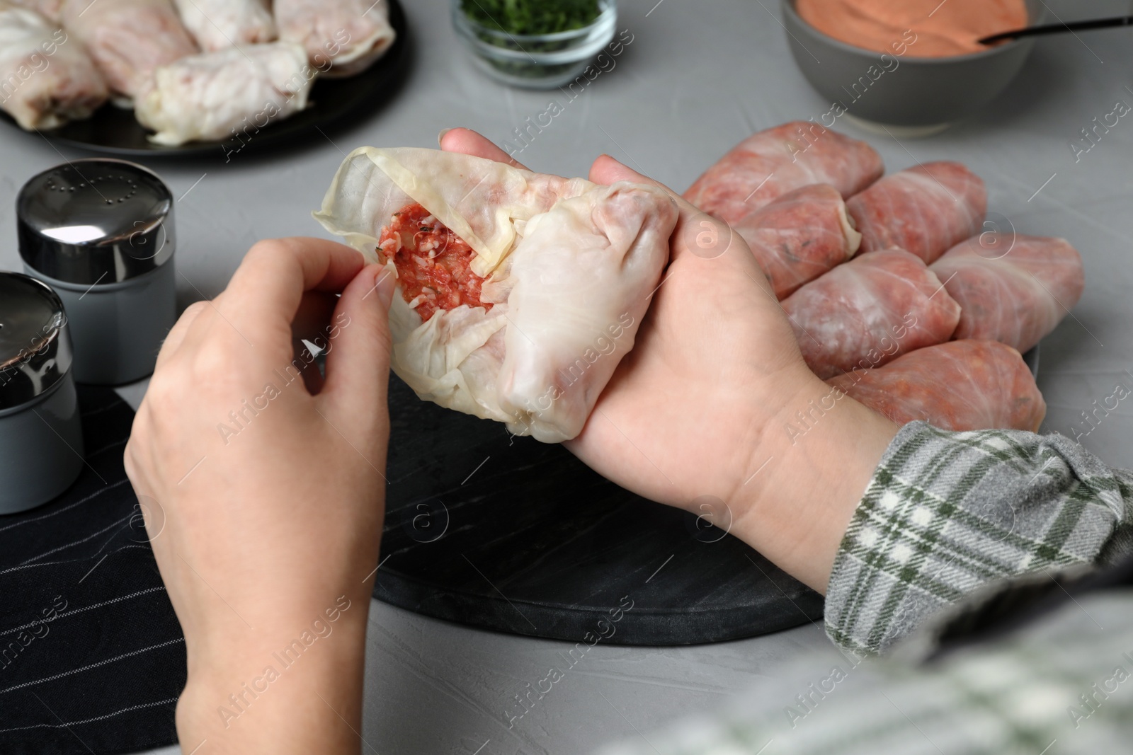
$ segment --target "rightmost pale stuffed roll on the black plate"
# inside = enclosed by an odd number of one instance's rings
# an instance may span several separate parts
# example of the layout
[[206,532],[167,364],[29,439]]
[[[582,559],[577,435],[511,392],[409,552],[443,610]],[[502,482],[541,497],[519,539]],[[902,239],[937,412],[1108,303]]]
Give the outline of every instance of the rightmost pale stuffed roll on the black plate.
[[323,76],[353,76],[397,38],[384,0],[275,0],[280,38],[300,42]]

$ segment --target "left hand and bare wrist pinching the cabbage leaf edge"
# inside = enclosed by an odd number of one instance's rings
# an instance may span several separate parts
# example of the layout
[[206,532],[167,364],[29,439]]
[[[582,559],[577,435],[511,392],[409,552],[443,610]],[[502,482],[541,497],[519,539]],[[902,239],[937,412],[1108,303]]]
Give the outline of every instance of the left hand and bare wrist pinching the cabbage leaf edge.
[[[330,241],[259,242],[157,358],[126,469],[185,632],[186,753],[358,749],[389,440],[380,273]],[[298,338],[329,350],[325,384]]]

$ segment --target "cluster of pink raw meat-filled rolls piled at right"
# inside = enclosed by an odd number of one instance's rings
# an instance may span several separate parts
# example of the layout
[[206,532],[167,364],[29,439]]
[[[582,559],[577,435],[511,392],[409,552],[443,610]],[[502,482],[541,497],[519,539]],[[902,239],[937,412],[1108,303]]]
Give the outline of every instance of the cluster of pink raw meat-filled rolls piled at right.
[[748,241],[832,386],[898,422],[1038,429],[1046,404],[1020,354],[1082,295],[1079,252],[985,226],[987,191],[964,165],[883,172],[868,144],[792,122],[684,196]]

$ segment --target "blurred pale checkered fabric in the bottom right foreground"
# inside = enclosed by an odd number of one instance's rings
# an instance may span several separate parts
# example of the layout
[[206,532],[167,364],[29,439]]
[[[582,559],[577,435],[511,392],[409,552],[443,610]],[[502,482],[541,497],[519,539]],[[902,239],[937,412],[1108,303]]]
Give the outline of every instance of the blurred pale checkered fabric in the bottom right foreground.
[[[927,668],[847,657],[602,755],[1065,755],[1133,743],[1133,595],[1094,594]],[[1105,627],[1105,628],[1102,628]]]

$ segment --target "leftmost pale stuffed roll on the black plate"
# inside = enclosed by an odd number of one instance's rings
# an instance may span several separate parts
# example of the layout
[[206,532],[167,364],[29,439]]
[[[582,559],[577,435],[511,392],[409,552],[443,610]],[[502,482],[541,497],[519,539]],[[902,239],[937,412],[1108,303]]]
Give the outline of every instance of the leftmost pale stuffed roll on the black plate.
[[0,108],[25,129],[86,118],[107,83],[78,42],[40,14],[0,0]]

